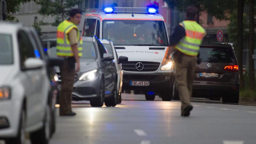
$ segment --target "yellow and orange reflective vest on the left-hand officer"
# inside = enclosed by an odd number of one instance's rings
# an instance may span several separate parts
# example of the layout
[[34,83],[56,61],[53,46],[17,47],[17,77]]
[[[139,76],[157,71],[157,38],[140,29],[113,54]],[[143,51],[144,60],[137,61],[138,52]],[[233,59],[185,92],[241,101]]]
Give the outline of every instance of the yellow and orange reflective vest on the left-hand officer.
[[82,38],[80,37],[79,30],[77,26],[68,20],[65,20],[60,23],[57,29],[57,56],[58,57],[74,57],[74,53],[71,49],[70,41],[68,39],[68,33],[73,28],[77,29],[77,49],[78,49],[78,56],[82,56]]

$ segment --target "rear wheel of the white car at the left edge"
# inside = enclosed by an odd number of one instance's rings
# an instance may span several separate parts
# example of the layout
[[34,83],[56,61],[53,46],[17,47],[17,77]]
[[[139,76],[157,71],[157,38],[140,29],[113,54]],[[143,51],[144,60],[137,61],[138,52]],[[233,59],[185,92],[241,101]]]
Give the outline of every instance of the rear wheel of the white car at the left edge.
[[45,117],[43,120],[43,127],[38,131],[30,133],[31,143],[47,144],[50,139],[50,134],[51,134],[51,106],[48,104],[45,111]]

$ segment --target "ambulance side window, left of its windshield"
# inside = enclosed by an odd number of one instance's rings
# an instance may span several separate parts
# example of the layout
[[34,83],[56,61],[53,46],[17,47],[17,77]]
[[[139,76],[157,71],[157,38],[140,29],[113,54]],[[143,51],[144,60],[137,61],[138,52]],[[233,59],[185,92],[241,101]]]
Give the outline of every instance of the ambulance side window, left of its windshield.
[[94,36],[96,19],[85,19],[83,27],[83,36]]

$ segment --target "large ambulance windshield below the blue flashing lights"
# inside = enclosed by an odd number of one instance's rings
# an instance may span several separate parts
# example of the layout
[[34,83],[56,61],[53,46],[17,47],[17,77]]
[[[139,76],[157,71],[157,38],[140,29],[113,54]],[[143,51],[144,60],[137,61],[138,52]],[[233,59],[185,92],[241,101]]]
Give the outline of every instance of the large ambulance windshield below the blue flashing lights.
[[114,45],[168,45],[164,21],[103,20],[102,37]]

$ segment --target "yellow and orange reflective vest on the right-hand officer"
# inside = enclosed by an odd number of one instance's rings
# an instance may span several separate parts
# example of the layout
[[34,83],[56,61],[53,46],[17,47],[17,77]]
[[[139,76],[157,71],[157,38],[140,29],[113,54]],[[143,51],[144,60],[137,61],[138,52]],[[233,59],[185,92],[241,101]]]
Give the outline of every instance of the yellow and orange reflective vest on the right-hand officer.
[[205,29],[196,21],[190,20],[182,21],[180,25],[185,29],[186,36],[175,45],[175,49],[186,55],[196,57],[199,51],[199,46],[205,36]]

